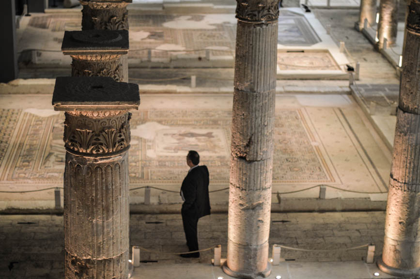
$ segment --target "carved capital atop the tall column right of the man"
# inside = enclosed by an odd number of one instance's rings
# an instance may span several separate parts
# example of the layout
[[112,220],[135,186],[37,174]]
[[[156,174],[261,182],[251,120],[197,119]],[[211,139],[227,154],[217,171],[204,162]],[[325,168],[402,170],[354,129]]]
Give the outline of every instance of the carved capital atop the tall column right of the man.
[[279,18],[279,0],[236,0],[236,18],[264,23]]

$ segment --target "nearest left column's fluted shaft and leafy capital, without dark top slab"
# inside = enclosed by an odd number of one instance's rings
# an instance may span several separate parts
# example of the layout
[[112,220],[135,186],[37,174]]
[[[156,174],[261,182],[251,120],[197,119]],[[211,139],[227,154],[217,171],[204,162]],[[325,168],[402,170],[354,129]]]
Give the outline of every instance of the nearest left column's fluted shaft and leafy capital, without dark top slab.
[[126,279],[129,113],[65,115],[65,277]]

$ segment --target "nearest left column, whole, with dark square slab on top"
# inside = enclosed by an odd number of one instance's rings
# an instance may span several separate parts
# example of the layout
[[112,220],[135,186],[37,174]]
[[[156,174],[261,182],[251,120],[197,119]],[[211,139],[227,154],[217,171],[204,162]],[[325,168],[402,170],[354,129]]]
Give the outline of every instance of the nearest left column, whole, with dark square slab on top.
[[66,279],[127,279],[129,109],[136,84],[104,77],[59,77],[55,110],[65,111]]

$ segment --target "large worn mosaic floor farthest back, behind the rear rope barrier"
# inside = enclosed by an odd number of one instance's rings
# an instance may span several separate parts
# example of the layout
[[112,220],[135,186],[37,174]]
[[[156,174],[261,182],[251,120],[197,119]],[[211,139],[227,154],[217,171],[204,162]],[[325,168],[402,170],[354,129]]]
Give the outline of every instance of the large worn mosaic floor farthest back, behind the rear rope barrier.
[[[27,49],[56,50],[37,52],[38,64],[68,64],[69,58],[59,51],[64,31],[81,29],[81,13],[34,15],[22,19],[18,33],[18,52],[21,62],[32,59]],[[25,22],[27,24],[25,24]],[[236,39],[234,15],[143,15],[130,12],[130,59],[166,61],[182,55],[233,56]],[[279,44],[308,47],[320,42],[311,24],[302,14],[280,11]],[[33,61],[32,61],[33,62]]]

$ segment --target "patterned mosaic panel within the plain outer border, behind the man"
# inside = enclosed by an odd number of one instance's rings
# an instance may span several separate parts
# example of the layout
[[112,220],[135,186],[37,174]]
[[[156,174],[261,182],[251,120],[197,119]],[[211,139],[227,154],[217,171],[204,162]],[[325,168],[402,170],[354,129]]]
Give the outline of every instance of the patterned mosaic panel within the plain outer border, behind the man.
[[[0,119],[11,117],[0,111]],[[18,112],[16,112],[18,113]],[[333,182],[325,158],[311,144],[312,131],[300,110],[276,112],[273,184]],[[24,112],[19,138],[0,174],[1,183],[62,185],[65,150],[63,120]],[[131,120],[130,185],[180,184],[185,156],[195,149],[209,167],[213,184],[229,183],[230,110],[140,110]],[[8,125],[10,133],[15,124]],[[7,134],[7,133],[6,133]],[[6,140],[7,135],[2,135]]]

